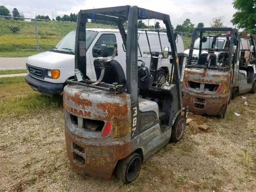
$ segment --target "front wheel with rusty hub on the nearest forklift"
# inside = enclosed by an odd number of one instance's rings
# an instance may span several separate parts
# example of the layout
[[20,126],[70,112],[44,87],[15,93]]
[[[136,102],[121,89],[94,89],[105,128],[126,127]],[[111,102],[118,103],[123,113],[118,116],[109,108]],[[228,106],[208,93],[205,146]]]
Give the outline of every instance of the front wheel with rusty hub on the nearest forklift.
[[176,117],[174,125],[172,126],[172,134],[171,134],[170,141],[174,143],[178,142],[182,138],[185,132],[185,127],[186,127],[185,116],[179,114]]

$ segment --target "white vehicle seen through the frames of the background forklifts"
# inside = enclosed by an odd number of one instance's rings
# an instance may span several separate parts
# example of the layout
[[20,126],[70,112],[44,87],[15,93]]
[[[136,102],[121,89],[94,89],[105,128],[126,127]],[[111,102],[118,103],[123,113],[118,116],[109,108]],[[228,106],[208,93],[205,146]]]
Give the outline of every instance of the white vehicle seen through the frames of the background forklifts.
[[[212,37],[210,37],[210,38],[207,37],[206,42],[202,43],[202,49],[211,47],[212,40],[213,40]],[[245,58],[246,58],[246,60],[248,60],[249,55],[250,55],[250,41],[249,41],[249,39],[244,39],[244,38],[241,38],[240,41],[241,41],[240,42],[240,51],[242,51],[242,50],[245,51]],[[199,44],[200,44],[200,38],[195,40],[191,63],[197,64],[197,62],[198,62]],[[216,40],[216,48],[218,48],[218,49],[228,48],[227,38],[226,37],[218,37]],[[189,54],[189,49],[185,50],[184,53]],[[202,53],[208,53],[208,51],[202,50]],[[214,52],[214,54],[216,54],[216,56],[218,58],[220,52]]]

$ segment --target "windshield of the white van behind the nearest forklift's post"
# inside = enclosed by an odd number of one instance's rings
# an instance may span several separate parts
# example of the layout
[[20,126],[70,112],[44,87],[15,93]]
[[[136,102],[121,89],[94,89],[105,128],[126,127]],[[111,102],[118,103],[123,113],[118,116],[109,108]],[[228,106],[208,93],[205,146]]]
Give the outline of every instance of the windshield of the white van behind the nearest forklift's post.
[[[88,50],[92,41],[98,32],[86,31],[86,50]],[[74,54],[75,51],[76,31],[69,32],[55,47],[54,51],[68,52]]]

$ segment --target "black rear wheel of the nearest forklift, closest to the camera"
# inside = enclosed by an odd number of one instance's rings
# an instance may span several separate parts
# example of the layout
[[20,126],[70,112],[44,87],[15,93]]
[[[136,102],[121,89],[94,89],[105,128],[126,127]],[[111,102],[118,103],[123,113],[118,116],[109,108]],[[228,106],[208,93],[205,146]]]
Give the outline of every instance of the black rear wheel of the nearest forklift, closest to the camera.
[[116,176],[125,184],[136,179],[140,172],[142,156],[133,152],[128,157],[120,160],[116,166]]

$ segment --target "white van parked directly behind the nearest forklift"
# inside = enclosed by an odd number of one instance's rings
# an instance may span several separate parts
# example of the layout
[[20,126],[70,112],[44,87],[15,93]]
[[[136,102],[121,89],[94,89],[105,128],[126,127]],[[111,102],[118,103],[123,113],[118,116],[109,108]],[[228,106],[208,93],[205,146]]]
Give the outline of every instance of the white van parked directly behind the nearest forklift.
[[[161,52],[158,33],[147,32],[152,52]],[[28,75],[26,82],[34,89],[47,96],[60,94],[67,79],[74,77],[74,47],[76,31],[68,33],[54,49],[28,57],[26,66]],[[170,43],[166,33],[160,33],[162,48],[169,47]],[[88,29],[86,30],[86,74],[90,80],[96,80],[93,61],[100,57],[98,49],[100,45],[106,44],[109,49],[109,56],[112,56],[114,43],[118,44],[118,53],[115,57],[124,72],[126,71],[126,53],[123,49],[123,41],[119,30],[116,29]],[[142,56],[148,56],[148,41],[145,31],[138,32],[138,43]],[[184,45],[181,36],[176,38],[178,53],[184,53]],[[140,53],[138,53],[140,55]],[[150,58],[143,58],[146,66],[150,66]],[[168,59],[159,60],[158,68],[168,70],[171,64]]]

